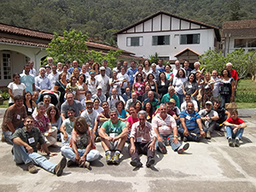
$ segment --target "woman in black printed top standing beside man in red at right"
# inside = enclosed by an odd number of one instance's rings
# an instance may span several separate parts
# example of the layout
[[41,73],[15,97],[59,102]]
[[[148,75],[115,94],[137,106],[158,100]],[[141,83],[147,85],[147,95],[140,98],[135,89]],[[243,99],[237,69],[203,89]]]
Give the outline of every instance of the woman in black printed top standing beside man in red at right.
[[219,95],[221,98],[221,108],[225,107],[225,103],[235,101],[235,81],[231,78],[230,71],[224,68],[221,72],[222,79],[219,83]]

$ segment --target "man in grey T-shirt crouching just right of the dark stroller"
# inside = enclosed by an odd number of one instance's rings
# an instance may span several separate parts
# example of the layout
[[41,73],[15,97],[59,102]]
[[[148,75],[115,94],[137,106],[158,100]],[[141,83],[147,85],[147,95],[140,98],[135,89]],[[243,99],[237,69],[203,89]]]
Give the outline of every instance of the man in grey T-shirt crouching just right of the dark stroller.
[[80,116],[80,113],[82,113],[84,111],[84,107],[81,104],[81,102],[74,100],[74,96],[73,93],[68,92],[67,93],[67,100],[66,102],[63,102],[61,105],[61,119],[62,121],[64,121],[65,119],[67,119],[67,109],[68,108],[74,108],[75,111],[75,117]]

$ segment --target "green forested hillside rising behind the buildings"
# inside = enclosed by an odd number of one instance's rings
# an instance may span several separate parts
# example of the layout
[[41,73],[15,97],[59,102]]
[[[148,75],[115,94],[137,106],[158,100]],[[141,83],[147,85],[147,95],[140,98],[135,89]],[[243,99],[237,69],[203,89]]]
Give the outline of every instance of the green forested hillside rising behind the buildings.
[[78,29],[113,45],[113,32],[159,10],[218,27],[256,19],[255,0],[1,0],[0,22],[59,34]]

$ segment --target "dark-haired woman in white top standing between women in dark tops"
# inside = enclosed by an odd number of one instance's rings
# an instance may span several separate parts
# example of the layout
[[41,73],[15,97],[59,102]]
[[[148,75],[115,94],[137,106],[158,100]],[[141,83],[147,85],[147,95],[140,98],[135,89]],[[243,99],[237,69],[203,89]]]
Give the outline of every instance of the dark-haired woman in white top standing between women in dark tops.
[[183,103],[183,83],[186,81],[186,74],[184,73],[183,69],[177,70],[176,78],[173,80],[173,86],[175,88],[175,92],[178,96],[179,103]]

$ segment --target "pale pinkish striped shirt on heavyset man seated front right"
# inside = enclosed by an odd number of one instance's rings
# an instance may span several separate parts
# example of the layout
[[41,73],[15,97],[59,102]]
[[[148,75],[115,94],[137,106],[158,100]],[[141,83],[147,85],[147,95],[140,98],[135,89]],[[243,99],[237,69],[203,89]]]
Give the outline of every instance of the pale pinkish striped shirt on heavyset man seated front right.
[[172,134],[172,127],[177,126],[175,119],[166,114],[166,119],[160,118],[160,113],[156,114],[152,119],[152,126],[159,131],[160,135],[171,135]]

